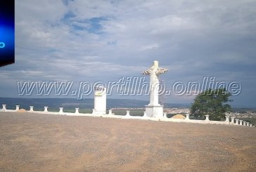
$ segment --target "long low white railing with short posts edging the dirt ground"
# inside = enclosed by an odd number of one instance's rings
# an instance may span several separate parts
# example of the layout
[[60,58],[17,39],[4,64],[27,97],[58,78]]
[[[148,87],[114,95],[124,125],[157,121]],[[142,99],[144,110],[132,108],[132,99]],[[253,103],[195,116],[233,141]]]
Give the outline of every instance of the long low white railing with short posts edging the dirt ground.
[[[17,112],[20,110],[20,105],[16,105],[15,110],[8,110],[6,105],[2,105],[2,109],[0,112]],[[33,112],[38,114],[58,114],[58,115],[69,115],[69,116],[89,116],[89,117],[110,117],[110,118],[122,118],[122,119],[148,119],[153,121],[172,121],[172,122],[185,122],[185,123],[194,123],[194,124],[226,124],[226,125],[236,125],[236,126],[255,126],[254,124],[250,124],[247,121],[243,121],[241,119],[236,119],[236,117],[229,117],[226,115],[225,121],[210,121],[209,115],[205,115],[205,120],[197,120],[190,119],[189,114],[186,114],[185,119],[172,119],[167,118],[167,112],[162,114],[160,118],[147,117],[146,112],[143,112],[143,117],[141,116],[132,116],[130,114],[130,110],[126,111],[125,115],[115,115],[112,110],[108,110],[108,114],[95,114],[95,110],[91,114],[80,113],[79,108],[75,108],[75,113],[71,112],[63,112],[63,107],[59,107],[59,112],[49,112],[48,107],[44,107],[44,111],[34,111],[34,106],[30,106],[30,110],[27,112]],[[231,119],[231,120],[230,120]]]

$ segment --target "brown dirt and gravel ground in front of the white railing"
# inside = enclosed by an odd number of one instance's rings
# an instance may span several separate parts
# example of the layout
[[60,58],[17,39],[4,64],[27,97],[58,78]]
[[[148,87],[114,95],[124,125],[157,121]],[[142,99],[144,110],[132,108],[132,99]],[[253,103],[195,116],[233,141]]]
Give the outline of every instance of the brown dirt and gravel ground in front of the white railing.
[[256,128],[0,112],[0,171],[256,171]]

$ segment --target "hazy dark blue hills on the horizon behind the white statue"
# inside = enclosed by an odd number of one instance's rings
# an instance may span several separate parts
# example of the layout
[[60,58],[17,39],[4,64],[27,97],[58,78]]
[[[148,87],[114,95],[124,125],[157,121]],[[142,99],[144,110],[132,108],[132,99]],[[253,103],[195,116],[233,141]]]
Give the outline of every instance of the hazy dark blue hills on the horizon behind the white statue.
[[[30,105],[34,106],[34,110],[43,110],[44,106],[50,109],[58,110],[58,107],[64,107],[65,109],[74,109],[79,107],[80,109],[93,109],[94,99],[84,98],[83,100],[77,100],[75,98],[0,98],[0,106],[7,105],[7,109],[15,109],[15,105],[20,105],[20,108],[26,110],[30,109]],[[131,99],[108,99],[107,107],[145,107],[148,105],[148,101],[145,100],[131,100]],[[166,103],[165,107],[190,107],[188,103]]]

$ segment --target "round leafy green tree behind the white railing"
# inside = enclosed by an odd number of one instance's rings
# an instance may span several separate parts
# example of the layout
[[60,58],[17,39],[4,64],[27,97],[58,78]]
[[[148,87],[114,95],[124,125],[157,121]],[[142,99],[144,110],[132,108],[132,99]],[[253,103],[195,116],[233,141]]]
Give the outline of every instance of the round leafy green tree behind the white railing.
[[208,114],[210,120],[219,121],[225,117],[225,112],[231,111],[231,106],[227,104],[227,102],[233,101],[230,97],[231,93],[225,88],[203,91],[194,99],[191,115],[204,117]]

